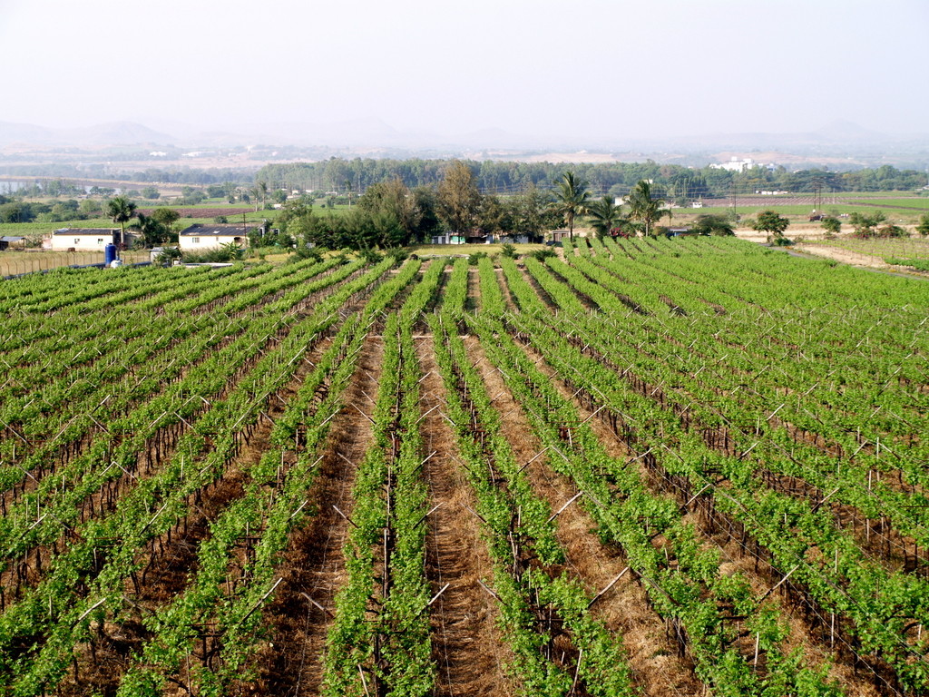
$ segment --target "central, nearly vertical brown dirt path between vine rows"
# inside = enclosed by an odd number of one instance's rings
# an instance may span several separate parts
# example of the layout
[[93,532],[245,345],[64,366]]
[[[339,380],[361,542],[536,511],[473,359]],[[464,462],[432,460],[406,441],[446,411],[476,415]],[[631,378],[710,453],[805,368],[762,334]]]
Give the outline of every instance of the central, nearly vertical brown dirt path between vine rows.
[[[426,534],[426,575],[437,590],[449,584],[430,609],[432,655],[438,666],[436,697],[479,697],[513,694],[504,664],[509,651],[496,626],[497,609],[478,580],[491,578],[493,567],[481,539],[474,494],[455,464],[454,434],[441,410],[445,387],[438,375],[432,339],[419,341],[417,352],[425,378],[421,383],[423,476],[429,482],[430,507]],[[429,411],[432,410],[432,411]]]

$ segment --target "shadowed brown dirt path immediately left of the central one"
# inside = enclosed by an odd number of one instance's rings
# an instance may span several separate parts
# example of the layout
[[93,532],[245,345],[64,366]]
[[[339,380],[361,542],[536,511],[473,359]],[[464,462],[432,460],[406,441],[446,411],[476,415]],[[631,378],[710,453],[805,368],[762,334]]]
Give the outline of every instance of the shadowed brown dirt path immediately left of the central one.
[[373,443],[369,416],[374,406],[371,399],[377,393],[382,353],[380,339],[369,337],[347,389],[346,406],[335,418],[308,496],[316,505],[317,515],[294,533],[281,562],[281,592],[265,612],[270,645],[256,660],[258,680],[250,692],[242,690],[243,694],[308,697],[321,692],[322,659],[334,598],[345,582],[343,546],[348,522],[334,506],[351,515],[355,472]]

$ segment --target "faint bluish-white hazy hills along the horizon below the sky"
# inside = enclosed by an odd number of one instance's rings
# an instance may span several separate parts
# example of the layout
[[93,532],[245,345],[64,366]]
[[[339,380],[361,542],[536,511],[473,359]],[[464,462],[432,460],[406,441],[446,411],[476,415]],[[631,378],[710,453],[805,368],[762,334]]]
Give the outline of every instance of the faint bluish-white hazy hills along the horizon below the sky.
[[[598,138],[530,137],[514,135],[500,128],[485,128],[457,135],[427,130],[401,131],[376,117],[362,117],[335,123],[217,124],[211,129],[180,122],[157,122],[158,128],[135,121],[114,121],[81,128],[0,122],[0,150],[15,153],[33,162],[56,154],[49,149],[101,151],[136,148],[145,151],[190,151],[247,149],[256,145],[264,150],[287,149],[286,157],[319,155],[342,157],[466,157],[537,161],[571,157],[599,162],[604,157],[623,162],[644,162],[702,166],[718,162],[720,153],[737,153],[763,161],[762,153],[779,153],[771,158],[777,164],[801,163],[806,166],[856,167],[875,164],[918,166],[929,161],[929,135],[888,136],[849,121],[837,120],[816,131],[801,133],[715,133],[700,136],[639,138],[635,134]],[[262,150],[259,148],[259,151]],[[277,155],[273,152],[273,155]],[[727,157],[728,155],[726,155]]]

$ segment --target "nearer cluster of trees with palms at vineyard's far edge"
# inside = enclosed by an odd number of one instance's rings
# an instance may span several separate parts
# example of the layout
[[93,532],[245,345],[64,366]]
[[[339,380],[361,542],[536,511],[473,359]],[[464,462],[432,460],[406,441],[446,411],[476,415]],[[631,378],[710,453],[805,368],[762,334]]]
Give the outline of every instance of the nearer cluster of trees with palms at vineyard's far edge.
[[[318,214],[310,197],[284,204],[275,221],[276,233],[305,250],[307,244],[333,249],[373,249],[428,242],[448,232],[481,240],[488,235],[525,236],[542,242],[548,230],[567,227],[573,239],[583,218],[598,236],[650,235],[661,232],[661,217],[670,216],[667,202],[647,179],[639,180],[625,203],[611,194],[596,198],[590,183],[575,172],[562,172],[547,182],[551,190],[530,182],[511,196],[481,192],[468,164],[452,161],[435,186],[410,188],[395,177],[370,186],[357,204],[338,214]],[[701,216],[695,231],[732,234],[725,217]]]

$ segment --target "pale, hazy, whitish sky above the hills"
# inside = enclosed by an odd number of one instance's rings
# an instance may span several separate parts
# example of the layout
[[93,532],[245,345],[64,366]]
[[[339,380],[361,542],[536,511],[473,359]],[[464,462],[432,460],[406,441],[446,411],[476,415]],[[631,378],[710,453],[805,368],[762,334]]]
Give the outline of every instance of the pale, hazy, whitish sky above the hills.
[[929,131],[929,0],[0,0],[0,121]]

